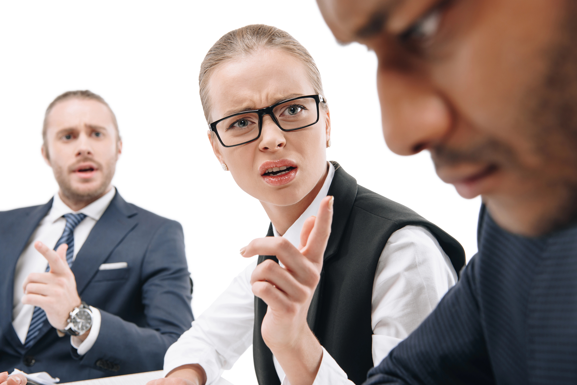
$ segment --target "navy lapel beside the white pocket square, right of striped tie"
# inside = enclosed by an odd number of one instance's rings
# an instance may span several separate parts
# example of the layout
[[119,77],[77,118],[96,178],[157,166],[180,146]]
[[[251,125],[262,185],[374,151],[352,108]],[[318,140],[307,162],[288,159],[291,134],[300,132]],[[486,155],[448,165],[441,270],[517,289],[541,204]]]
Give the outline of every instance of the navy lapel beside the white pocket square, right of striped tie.
[[78,295],[82,295],[100,265],[138,225],[136,214],[136,211],[117,192],[100,220],[92,228],[72,264]]

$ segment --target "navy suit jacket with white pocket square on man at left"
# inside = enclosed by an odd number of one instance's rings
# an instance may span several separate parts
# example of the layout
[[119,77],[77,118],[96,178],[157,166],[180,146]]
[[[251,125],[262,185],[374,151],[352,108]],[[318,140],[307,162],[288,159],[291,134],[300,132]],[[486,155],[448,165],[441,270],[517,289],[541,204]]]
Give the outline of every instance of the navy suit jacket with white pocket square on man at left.
[[[190,327],[192,281],[182,227],[115,194],[72,265],[78,294],[102,314],[100,333],[84,356],[70,337],[45,322],[25,349],[12,326],[16,262],[46,205],[0,212],[0,372],[46,371],[61,382],[160,370],[168,346]],[[99,270],[102,263],[128,268]]]

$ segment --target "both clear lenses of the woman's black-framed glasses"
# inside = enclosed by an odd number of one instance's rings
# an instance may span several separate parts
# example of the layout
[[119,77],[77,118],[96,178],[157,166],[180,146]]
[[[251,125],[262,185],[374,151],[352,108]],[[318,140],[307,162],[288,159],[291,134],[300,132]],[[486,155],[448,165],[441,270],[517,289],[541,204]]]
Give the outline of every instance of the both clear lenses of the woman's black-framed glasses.
[[[300,129],[313,124],[319,118],[316,100],[312,97],[279,104],[272,112],[283,130]],[[216,130],[226,146],[253,141],[258,137],[258,114],[247,112],[230,116],[217,123]]]

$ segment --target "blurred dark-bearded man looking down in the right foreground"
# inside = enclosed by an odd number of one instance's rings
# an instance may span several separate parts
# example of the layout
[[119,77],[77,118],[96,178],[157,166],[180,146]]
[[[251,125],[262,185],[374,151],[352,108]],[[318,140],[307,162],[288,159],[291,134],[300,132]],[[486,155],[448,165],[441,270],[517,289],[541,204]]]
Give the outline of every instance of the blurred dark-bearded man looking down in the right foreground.
[[319,5],[339,41],[379,59],[389,148],[429,150],[441,179],[484,202],[462,279],[368,383],[574,383],[577,3]]

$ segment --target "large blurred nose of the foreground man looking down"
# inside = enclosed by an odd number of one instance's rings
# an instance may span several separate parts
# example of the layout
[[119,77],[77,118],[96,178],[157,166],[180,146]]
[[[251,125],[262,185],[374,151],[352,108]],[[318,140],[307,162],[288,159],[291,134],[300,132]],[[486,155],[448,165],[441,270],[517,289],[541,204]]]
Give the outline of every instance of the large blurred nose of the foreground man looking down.
[[441,141],[451,129],[451,111],[429,82],[410,72],[377,73],[383,134],[392,152],[413,155]]

